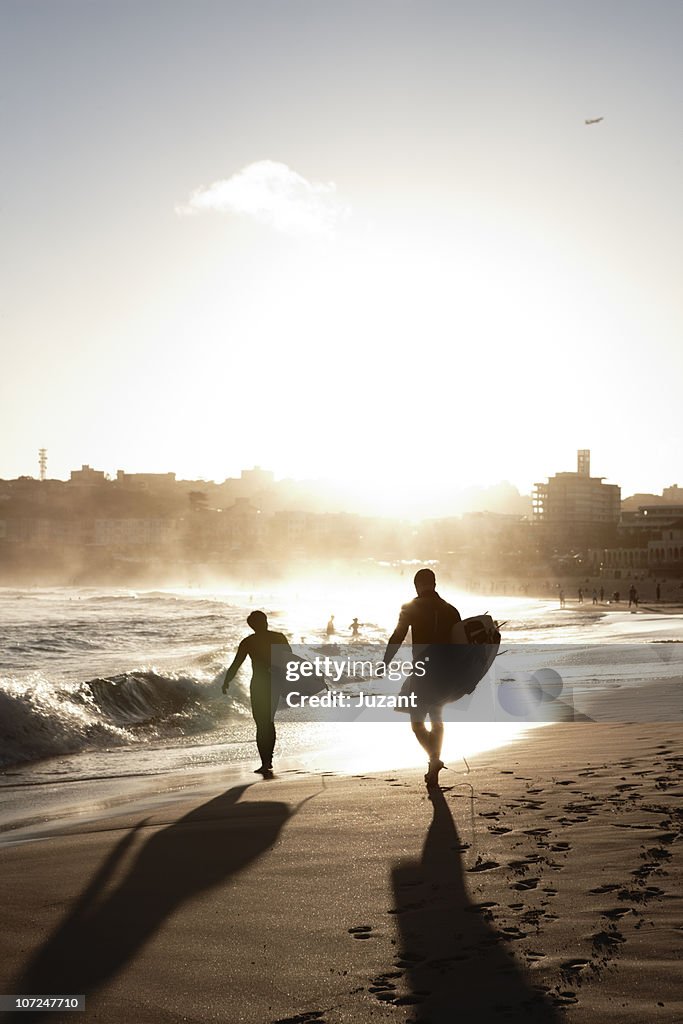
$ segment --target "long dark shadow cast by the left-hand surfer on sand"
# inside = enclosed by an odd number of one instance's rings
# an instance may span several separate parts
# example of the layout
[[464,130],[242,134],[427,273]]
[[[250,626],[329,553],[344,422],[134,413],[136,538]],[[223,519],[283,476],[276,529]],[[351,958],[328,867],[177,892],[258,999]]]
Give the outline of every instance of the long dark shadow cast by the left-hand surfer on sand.
[[145,822],[126,833],[13,991],[85,992],[87,1005],[87,994],[120,972],[170,914],[265,853],[291,811],[273,801],[238,803],[246,788],[234,786],[156,831],[112,886]]

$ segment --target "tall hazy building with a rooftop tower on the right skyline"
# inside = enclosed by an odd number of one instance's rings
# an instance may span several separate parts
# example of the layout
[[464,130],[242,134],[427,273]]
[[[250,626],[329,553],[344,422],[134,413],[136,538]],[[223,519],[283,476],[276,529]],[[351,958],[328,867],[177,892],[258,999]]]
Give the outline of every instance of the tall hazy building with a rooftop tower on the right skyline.
[[591,453],[578,453],[575,473],[555,473],[533,486],[533,521],[552,526],[612,525],[618,522],[622,488],[591,476]]

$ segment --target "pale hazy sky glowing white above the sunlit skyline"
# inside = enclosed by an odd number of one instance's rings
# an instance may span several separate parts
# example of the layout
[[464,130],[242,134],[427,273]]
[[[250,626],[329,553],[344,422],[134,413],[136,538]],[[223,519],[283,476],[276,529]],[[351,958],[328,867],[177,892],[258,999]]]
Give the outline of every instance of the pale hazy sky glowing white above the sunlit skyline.
[[682,39],[669,0],[0,0],[0,476],[683,483]]

